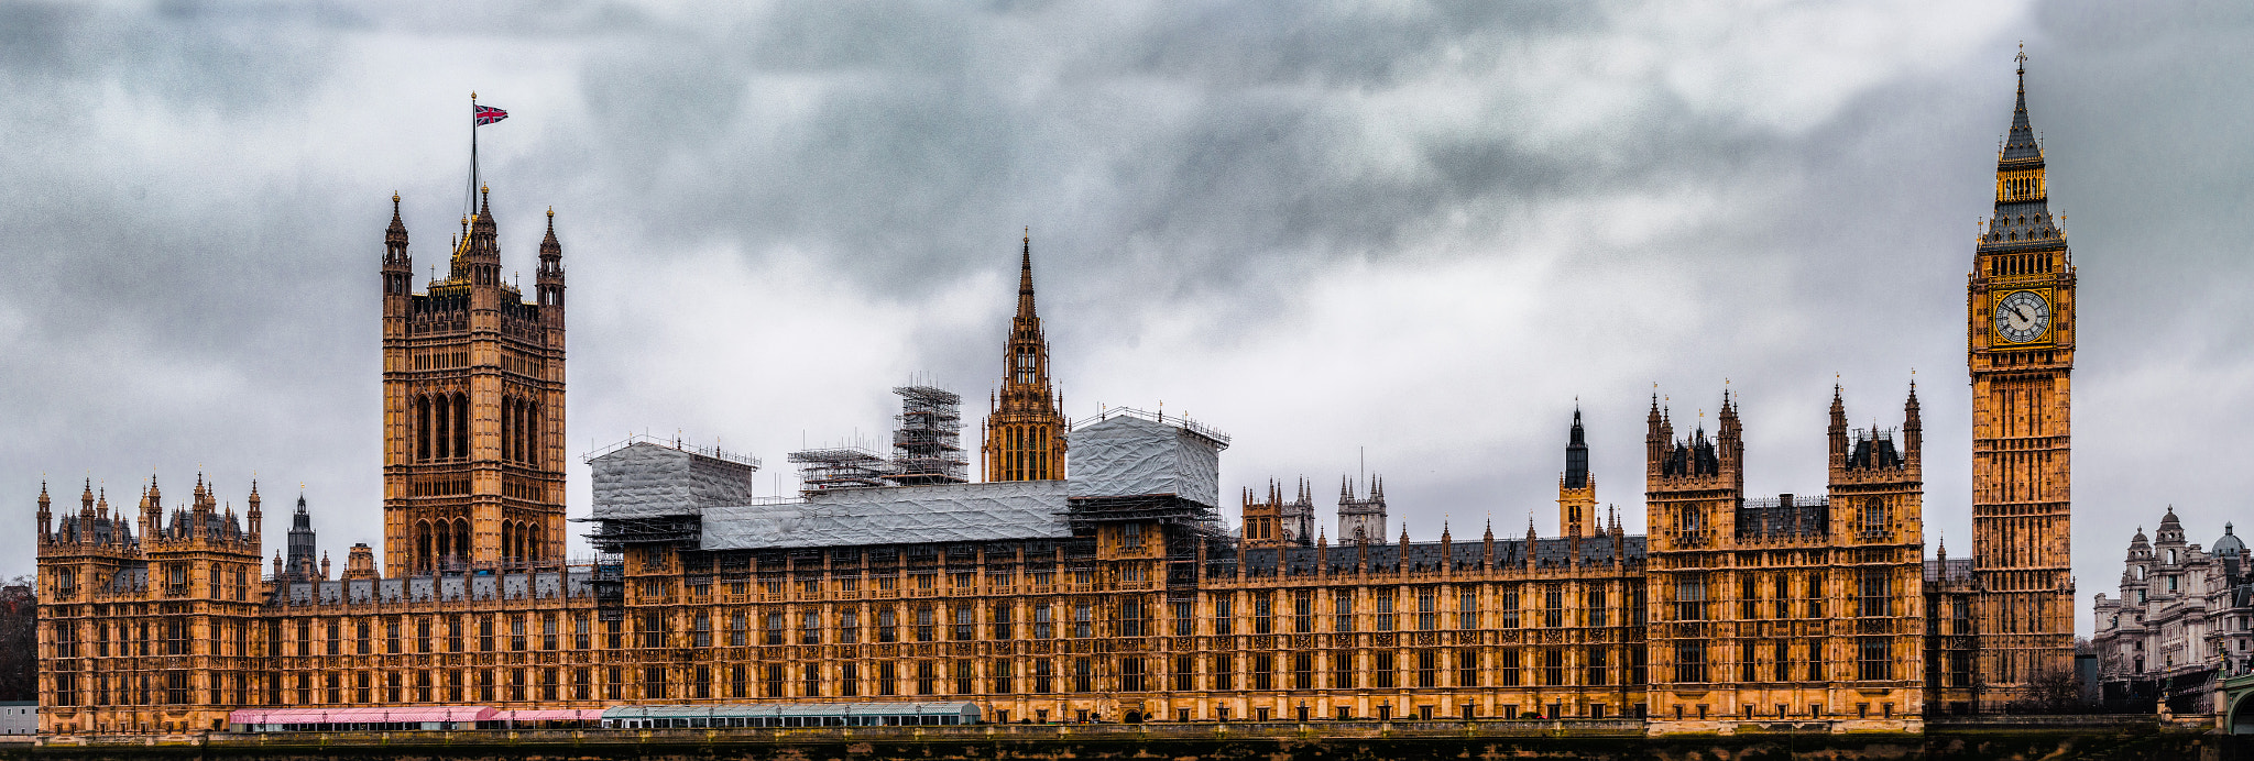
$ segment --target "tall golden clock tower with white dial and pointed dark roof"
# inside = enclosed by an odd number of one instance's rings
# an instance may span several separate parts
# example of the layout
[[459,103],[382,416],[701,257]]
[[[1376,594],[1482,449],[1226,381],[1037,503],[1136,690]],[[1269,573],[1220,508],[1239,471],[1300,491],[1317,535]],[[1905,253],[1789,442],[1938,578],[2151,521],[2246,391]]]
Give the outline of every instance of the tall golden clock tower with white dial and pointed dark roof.
[[1986,707],[2074,666],[2074,259],[2049,212],[2042,144],[2020,99],[1995,167],[1995,216],[1965,284],[1972,371],[1972,579]]

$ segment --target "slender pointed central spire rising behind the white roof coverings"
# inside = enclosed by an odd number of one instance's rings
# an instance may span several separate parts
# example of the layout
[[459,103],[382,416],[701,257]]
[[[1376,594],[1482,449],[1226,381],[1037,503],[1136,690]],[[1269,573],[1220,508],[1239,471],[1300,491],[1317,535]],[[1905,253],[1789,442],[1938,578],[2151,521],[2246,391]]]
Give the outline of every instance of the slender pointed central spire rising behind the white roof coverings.
[[1064,399],[1048,385],[1048,340],[1032,311],[1032,234],[1026,234],[1017,277],[1017,317],[1010,320],[1008,369],[987,414],[985,457],[990,482],[1064,480]]

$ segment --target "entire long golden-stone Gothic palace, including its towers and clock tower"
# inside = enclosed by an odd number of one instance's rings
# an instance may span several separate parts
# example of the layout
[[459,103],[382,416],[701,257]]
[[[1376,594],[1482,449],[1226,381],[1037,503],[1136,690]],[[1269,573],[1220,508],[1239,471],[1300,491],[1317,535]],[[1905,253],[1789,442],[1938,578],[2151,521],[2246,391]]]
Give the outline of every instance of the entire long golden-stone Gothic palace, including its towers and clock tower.
[[[2022,59],[2024,61],[2024,59]],[[1828,493],[1745,491],[1738,401],[1643,439],[1648,534],[1598,509],[1580,417],[1558,536],[1388,538],[1384,482],[1271,484],[1224,529],[1195,421],[1068,423],[1021,252],[1005,374],[967,477],[960,399],[895,390],[893,453],[791,453],[805,489],[681,441],[593,453],[566,520],[564,250],[532,299],[480,205],[412,288],[383,236],[383,547],[340,574],[300,498],[264,549],[198,482],[38,495],[41,732],[223,727],[241,707],[969,700],[985,720],[1612,718],[1920,732],[2071,669],[2074,263],[2020,97],[1970,261],[1968,558],[1927,556],[1916,387],[1851,430]],[[482,191],[480,191],[482,198]],[[178,489],[178,486],[176,486]],[[68,500],[68,498],[65,498]],[[185,504],[183,504],[185,502]],[[568,561],[568,531],[595,561]]]

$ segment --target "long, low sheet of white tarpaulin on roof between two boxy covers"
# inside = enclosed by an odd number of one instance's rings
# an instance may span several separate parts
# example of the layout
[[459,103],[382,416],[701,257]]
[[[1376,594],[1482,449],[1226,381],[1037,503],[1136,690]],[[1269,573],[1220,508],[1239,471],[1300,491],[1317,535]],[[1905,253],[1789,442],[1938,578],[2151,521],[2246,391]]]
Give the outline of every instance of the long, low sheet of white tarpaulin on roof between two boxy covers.
[[802,502],[703,511],[701,549],[1068,538],[1064,482],[818,491]]

